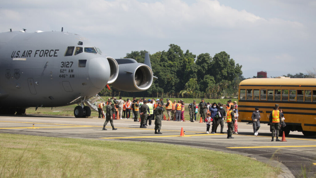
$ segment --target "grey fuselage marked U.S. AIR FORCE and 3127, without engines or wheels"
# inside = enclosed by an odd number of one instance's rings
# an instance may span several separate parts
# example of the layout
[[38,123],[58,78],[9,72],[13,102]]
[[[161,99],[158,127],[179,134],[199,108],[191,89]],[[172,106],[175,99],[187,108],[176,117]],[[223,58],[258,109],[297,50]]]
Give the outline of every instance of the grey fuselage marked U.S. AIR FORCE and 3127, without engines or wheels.
[[81,35],[0,33],[0,106],[64,106],[97,94],[110,71],[108,59]]

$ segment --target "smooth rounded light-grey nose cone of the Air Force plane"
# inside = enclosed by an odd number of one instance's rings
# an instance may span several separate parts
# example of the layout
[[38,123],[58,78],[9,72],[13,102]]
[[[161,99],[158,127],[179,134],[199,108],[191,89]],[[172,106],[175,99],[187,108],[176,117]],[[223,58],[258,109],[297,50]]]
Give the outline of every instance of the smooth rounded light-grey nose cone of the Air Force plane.
[[110,78],[110,64],[106,58],[93,58],[89,61],[89,79],[94,87],[103,89]]

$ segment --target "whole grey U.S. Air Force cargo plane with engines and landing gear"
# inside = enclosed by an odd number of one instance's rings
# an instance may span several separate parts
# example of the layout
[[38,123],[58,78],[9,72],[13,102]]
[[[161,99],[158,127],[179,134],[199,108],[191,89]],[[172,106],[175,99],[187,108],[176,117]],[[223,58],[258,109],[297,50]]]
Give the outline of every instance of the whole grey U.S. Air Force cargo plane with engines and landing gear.
[[0,33],[0,114],[78,104],[75,117],[88,117],[95,109],[89,99],[107,84],[143,91],[153,78],[149,54],[144,64],[106,57],[87,38],[63,29]]

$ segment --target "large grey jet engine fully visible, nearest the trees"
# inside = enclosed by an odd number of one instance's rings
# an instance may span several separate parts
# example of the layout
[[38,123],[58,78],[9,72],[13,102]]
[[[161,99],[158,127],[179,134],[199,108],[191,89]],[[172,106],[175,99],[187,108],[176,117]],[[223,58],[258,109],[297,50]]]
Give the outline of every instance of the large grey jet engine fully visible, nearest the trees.
[[149,89],[153,83],[153,71],[146,64],[134,59],[115,59],[119,64],[119,76],[112,83],[115,89],[138,92]]

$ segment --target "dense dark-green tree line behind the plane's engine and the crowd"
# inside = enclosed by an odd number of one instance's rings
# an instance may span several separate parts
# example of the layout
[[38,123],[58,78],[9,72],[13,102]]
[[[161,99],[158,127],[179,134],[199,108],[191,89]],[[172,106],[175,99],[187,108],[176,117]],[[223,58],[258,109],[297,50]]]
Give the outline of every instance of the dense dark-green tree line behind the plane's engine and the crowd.
[[[146,52],[132,51],[124,58],[143,63]],[[242,65],[235,64],[234,59],[225,51],[213,57],[209,53],[196,56],[189,50],[184,52],[180,46],[170,44],[168,51],[159,51],[149,56],[152,71],[158,79],[153,81],[148,90],[122,93],[112,87],[112,91],[109,91],[105,87],[99,95],[158,97],[165,93],[166,97],[237,96],[238,85],[245,79],[242,76]]]

